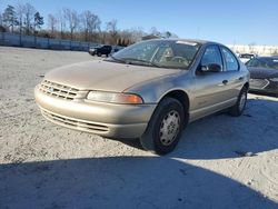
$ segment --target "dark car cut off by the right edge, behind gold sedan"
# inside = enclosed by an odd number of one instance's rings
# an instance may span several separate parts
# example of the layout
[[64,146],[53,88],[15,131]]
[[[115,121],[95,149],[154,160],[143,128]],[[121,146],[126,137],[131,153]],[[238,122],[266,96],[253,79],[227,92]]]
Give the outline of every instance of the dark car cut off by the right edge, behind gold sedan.
[[246,63],[250,71],[250,90],[278,96],[278,57],[258,57]]

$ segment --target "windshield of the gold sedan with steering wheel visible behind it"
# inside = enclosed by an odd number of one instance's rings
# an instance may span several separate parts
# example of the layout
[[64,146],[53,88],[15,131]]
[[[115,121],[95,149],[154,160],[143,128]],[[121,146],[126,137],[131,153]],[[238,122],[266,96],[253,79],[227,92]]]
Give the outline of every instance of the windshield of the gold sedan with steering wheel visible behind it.
[[107,61],[158,68],[188,69],[200,44],[181,40],[150,40],[132,44]]

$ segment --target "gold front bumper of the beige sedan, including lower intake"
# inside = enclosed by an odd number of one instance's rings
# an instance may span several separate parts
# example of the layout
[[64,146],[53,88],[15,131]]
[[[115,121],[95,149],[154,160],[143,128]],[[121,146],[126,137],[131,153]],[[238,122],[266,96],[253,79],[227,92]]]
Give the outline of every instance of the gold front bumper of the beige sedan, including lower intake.
[[108,138],[139,138],[145,132],[156,104],[116,104],[85,99],[67,100],[43,93],[34,97],[42,116],[57,125]]

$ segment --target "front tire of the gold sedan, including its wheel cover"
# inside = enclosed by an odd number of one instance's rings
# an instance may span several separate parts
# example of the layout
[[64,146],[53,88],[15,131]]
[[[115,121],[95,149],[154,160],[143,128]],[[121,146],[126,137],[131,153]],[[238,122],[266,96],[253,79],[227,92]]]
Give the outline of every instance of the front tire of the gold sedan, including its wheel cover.
[[165,98],[155,110],[140,143],[143,149],[158,155],[169,153],[177,146],[183,127],[182,104],[173,98]]

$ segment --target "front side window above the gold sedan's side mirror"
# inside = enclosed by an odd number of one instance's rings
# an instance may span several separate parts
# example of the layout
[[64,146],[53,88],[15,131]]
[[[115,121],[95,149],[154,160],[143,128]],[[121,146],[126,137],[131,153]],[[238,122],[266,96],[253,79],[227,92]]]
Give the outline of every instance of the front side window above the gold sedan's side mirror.
[[222,58],[220,50],[217,46],[209,46],[201,58],[201,66],[208,66],[211,63],[217,63],[222,69]]

